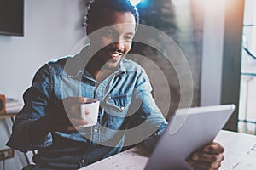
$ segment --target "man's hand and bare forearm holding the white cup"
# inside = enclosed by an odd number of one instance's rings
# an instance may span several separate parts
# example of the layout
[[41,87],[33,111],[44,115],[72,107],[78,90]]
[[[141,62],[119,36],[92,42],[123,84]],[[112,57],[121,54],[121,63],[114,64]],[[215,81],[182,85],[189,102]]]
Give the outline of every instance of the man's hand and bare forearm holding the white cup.
[[[87,122],[81,119],[79,105],[86,102],[82,97],[68,97],[59,100],[54,108],[29,127],[29,136],[33,144],[41,143],[49,132],[71,132]],[[85,111],[84,114],[90,114]]]

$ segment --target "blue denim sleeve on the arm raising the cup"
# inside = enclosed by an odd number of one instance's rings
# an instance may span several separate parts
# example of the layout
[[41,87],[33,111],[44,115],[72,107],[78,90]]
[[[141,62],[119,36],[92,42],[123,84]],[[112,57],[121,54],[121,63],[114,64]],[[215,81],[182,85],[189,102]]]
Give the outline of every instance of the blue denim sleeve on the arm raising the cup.
[[32,86],[23,94],[24,106],[15,117],[12,134],[7,145],[26,152],[28,150],[38,150],[41,147],[52,145],[52,135],[49,133],[41,144],[32,144],[29,137],[29,127],[32,122],[45,116],[49,110],[50,94],[52,91],[52,81],[49,66],[44,65],[36,73],[32,81]]

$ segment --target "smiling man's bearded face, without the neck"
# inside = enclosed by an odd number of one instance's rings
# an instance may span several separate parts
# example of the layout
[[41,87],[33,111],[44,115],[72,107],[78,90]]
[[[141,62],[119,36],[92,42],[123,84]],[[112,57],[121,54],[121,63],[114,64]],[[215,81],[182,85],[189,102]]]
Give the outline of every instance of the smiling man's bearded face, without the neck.
[[96,53],[96,62],[104,69],[113,70],[131,49],[136,21],[131,12],[105,9],[104,13],[96,26],[90,26],[90,32],[101,29],[90,39],[90,45],[101,48]]

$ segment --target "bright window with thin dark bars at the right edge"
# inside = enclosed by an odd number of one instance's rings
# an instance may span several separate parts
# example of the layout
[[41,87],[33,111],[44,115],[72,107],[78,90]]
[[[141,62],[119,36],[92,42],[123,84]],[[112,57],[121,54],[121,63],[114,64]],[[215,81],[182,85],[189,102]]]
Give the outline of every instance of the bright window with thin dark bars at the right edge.
[[256,134],[256,1],[246,0],[238,130]]

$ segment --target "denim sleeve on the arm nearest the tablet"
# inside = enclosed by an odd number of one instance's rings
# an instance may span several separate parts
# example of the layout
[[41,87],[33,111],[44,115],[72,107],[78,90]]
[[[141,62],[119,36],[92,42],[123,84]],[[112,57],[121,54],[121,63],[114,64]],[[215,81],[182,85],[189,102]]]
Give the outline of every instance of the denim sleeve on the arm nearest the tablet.
[[[160,109],[156,105],[151,94],[152,87],[146,72],[143,70],[137,77],[136,87],[131,102],[133,114],[130,117],[128,141],[138,143],[143,141],[149,150],[153,150],[160,135],[164,132],[167,122]],[[131,139],[137,139],[131,142]],[[127,140],[126,140],[127,141]]]

